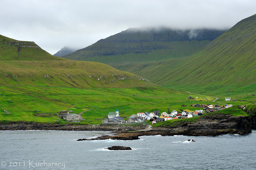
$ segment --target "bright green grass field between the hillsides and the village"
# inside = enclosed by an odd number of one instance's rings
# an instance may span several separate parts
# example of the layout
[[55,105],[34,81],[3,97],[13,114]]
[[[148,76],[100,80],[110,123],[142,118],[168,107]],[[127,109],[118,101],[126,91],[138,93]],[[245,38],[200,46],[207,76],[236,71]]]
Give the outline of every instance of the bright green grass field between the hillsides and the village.
[[[215,99],[213,97],[196,95],[198,98],[190,101],[186,97],[191,94],[161,86],[93,89],[0,86],[0,94],[1,121],[55,122],[57,116],[38,117],[33,114],[73,110],[73,113],[76,114],[86,111],[81,114],[85,119],[81,123],[101,124],[108,112],[113,112],[116,108],[118,108],[120,116],[129,117],[138,112],[153,112],[154,110],[159,110],[160,113],[167,112],[168,108],[169,111],[175,109],[178,112],[184,109],[192,111],[199,109],[190,107],[190,104],[193,103],[216,104],[216,102],[212,102]],[[198,100],[205,98],[208,101]],[[221,102],[234,105],[233,101]],[[181,107],[181,104],[188,107]],[[248,101],[237,101],[236,104],[248,104]],[[4,110],[12,114],[3,114]]]

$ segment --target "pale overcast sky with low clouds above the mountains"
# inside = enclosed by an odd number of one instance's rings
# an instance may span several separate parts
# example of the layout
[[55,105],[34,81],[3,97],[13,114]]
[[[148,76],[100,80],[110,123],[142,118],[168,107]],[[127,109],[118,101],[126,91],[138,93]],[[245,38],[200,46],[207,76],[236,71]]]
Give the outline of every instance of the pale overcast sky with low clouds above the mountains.
[[0,0],[0,34],[55,54],[128,28],[229,29],[256,14],[255,0]]

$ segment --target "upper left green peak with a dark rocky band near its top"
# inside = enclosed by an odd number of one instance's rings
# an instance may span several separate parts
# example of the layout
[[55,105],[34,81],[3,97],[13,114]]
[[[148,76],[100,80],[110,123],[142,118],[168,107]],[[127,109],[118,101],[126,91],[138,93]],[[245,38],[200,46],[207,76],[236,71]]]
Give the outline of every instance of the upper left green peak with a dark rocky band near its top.
[[0,60],[56,60],[55,57],[32,41],[18,41],[0,35]]

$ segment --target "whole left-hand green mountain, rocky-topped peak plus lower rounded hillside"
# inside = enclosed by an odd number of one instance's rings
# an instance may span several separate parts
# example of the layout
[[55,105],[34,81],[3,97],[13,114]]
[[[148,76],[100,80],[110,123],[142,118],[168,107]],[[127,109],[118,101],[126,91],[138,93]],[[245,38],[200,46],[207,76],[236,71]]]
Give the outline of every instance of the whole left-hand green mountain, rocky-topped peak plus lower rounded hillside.
[[152,85],[144,78],[96,62],[76,62],[53,56],[35,42],[0,36],[1,86],[61,86],[76,88]]

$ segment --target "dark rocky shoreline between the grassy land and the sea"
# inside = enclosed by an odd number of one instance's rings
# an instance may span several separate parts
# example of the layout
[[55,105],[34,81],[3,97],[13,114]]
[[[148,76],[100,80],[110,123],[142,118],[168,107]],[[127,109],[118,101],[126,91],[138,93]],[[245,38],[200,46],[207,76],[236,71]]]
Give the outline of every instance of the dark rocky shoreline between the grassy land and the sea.
[[212,114],[201,116],[196,121],[179,121],[166,124],[165,126],[153,127],[143,131],[145,125],[83,125],[83,124],[58,124],[39,122],[5,122],[0,123],[0,130],[74,130],[74,131],[112,131],[114,136],[101,136],[93,139],[79,140],[136,140],[140,136],[162,135],[185,135],[185,136],[218,136],[222,134],[244,135],[251,133],[255,120],[249,116],[232,116],[230,114]]

